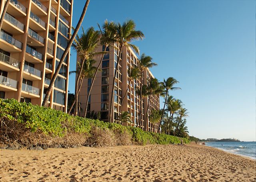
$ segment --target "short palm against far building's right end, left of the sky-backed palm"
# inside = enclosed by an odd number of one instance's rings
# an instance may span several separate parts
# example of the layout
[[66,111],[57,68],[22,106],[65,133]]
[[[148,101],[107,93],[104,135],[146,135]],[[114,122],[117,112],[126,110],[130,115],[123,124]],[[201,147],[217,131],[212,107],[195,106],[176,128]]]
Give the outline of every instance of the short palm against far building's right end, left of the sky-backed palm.
[[146,128],[148,128],[147,127],[147,125],[148,125],[148,111],[149,111],[151,96],[162,93],[162,89],[160,89],[160,85],[159,85],[158,80],[156,78],[151,78],[149,80],[148,86],[146,87],[146,90],[147,90],[147,95],[148,95],[148,107],[147,107],[146,115],[145,115],[145,126],[146,126]]

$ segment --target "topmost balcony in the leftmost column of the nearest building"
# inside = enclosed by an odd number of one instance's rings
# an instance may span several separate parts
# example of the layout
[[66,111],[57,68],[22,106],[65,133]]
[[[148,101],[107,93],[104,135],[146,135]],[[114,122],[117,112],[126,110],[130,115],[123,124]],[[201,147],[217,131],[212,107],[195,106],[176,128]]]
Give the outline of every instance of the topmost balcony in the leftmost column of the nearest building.
[[10,0],[10,6],[8,6],[8,12],[14,16],[26,16],[27,8],[23,6],[18,0]]

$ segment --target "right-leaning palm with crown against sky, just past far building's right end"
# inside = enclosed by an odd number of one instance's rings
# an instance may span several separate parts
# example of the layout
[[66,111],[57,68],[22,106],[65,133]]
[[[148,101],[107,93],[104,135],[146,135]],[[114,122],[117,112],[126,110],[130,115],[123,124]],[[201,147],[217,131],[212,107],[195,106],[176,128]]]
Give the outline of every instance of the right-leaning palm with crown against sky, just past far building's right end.
[[[162,82],[162,87],[164,88],[164,92],[162,93],[162,95],[165,94],[165,101],[164,101],[164,110],[165,110],[165,105],[166,105],[166,101],[167,101],[167,96],[168,96],[168,92],[169,90],[177,90],[177,89],[181,89],[179,87],[174,87],[175,84],[179,83],[175,78],[172,78],[172,77],[169,77],[167,78],[167,80],[164,79],[164,82]],[[160,130],[160,126],[161,126],[161,121],[162,121],[162,118],[164,116],[164,112],[162,113],[162,116],[161,116],[161,120],[160,120],[160,123],[159,123],[159,126],[158,126],[158,132]]]

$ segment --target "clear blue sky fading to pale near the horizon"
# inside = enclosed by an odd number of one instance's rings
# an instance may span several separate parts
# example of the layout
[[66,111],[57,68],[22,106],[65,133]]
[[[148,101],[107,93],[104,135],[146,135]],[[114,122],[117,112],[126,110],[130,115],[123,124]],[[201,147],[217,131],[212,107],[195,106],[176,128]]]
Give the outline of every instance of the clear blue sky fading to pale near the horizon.
[[[84,0],[74,0],[74,27],[83,6]],[[190,112],[189,134],[255,141],[255,7],[254,0],[91,0],[82,26],[134,20],[145,34],[134,44],[158,64],[154,76],[180,82],[182,90],[170,94]],[[75,70],[76,52],[71,54]]]

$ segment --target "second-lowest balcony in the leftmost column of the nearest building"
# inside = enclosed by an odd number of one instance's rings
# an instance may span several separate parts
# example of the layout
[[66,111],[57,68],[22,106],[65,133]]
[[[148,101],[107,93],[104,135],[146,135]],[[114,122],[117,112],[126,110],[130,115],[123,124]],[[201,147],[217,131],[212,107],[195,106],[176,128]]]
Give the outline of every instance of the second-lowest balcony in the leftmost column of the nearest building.
[[0,53],[0,67],[4,71],[19,71],[20,61],[13,59],[3,53]]

